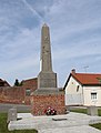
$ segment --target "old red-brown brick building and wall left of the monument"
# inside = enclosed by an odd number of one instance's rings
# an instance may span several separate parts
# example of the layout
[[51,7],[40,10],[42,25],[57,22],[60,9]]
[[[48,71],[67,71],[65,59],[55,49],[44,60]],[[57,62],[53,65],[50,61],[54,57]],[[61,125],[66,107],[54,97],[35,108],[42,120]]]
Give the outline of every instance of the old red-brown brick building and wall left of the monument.
[[7,81],[4,81],[4,83],[1,82],[0,102],[1,103],[30,104],[30,94],[37,88],[38,88],[37,78],[23,80],[21,86],[10,86]]

